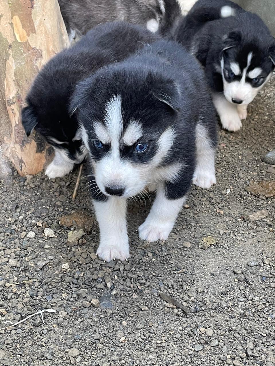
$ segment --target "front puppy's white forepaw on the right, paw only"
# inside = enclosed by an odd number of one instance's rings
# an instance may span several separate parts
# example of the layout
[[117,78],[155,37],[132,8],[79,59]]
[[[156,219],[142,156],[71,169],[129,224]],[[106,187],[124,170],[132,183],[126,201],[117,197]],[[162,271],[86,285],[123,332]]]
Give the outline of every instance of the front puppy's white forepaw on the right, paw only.
[[139,227],[139,238],[149,243],[166,240],[173,226],[174,223],[171,222],[158,223],[147,218]]

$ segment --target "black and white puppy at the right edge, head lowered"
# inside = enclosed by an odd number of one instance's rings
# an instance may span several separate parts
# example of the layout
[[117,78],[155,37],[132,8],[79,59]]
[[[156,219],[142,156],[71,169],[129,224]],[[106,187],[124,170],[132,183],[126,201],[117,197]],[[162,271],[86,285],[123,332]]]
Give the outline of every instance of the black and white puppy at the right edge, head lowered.
[[275,67],[275,40],[263,20],[232,1],[198,0],[174,39],[205,67],[222,126],[238,131]]

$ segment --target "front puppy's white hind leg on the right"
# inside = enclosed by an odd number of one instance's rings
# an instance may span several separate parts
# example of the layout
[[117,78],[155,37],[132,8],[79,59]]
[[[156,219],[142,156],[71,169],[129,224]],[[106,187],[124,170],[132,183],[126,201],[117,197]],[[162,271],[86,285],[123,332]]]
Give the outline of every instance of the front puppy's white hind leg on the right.
[[211,146],[207,130],[200,122],[196,126],[196,150],[197,165],[193,183],[202,188],[210,188],[216,184],[215,148]]

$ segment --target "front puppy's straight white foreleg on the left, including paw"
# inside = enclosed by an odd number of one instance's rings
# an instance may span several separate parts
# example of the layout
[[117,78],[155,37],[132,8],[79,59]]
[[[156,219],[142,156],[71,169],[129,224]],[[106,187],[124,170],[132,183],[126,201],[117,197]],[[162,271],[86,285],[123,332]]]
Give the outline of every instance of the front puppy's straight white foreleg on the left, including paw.
[[100,230],[100,243],[96,254],[104,261],[129,258],[129,239],[126,226],[126,199],[108,197],[94,201]]

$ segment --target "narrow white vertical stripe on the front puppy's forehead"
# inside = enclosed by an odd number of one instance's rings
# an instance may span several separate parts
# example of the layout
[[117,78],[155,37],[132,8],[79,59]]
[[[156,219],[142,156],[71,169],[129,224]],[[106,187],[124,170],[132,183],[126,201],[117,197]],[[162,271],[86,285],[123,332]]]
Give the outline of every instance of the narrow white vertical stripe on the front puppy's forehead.
[[106,106],[106,130],[111,143],[119,141],[122,131],[121,97],[114,96]]

